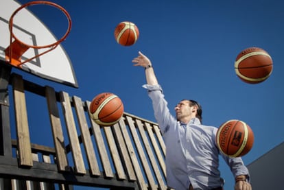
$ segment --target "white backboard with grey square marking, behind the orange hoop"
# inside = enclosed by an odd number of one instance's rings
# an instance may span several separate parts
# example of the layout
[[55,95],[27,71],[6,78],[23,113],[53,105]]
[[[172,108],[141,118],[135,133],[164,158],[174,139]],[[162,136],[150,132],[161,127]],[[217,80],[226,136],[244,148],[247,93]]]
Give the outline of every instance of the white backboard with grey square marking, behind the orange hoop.
[[[14,0],[3,0],[0,6],[0,60],[3,60],[6,64],[10,64],[5,56],[5,49],[10,46],[9,21],[11,15],[19,7],[21,7],[21,3]],[[68,22],[66,25],[68,25]],[[29,10],[29,7],[23,8],[14,16],[12,31],[16,38],[32,46],[49,45],[55,43],[61,37],[56,38],[47,25]],[[47,51],[47,49],[29,48],[21,56],[21,59],[28,60],[44,51]],[[61,44],[47,54],[21,64],[21,67],[13,67],[37,75],[40,78],[78,88],[71,60]]]

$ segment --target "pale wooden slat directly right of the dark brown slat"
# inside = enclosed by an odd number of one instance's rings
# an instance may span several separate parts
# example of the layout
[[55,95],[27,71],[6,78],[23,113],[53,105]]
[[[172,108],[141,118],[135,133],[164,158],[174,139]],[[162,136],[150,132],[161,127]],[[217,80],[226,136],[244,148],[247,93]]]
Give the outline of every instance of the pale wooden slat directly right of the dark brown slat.
[[80,147],[78,132],[76,130],[75,121],[73,117],[72,107],[68,93],[61,91],[60,101],[66,123],[66,128],[69,136],[69,142],[71,146],[71,153],[75,165],[75,171],[78,174],[86,174],[84,160],[82,156],[82,150]]

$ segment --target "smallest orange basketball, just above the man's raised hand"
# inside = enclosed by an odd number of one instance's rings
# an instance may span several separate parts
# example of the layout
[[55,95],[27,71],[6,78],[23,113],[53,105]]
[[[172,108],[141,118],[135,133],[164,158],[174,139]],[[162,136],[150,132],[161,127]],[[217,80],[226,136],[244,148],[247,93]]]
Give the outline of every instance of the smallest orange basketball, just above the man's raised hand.
[[139,29],[134,23],[124,21],[115,27],[115,40],[123,46],[134,45],[139,38]]

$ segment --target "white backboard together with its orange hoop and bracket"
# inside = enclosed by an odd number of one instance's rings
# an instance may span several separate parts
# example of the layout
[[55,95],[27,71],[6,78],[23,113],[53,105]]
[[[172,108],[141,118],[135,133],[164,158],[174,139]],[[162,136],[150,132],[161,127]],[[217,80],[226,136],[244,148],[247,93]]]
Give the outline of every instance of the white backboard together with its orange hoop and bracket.
[[[46,5],[66,16],[67,31],[55,36],[34,15],[31,6]],[[64,28],[64,23],[62,23]],[[0,6],[0,61],[40,78],[78,88],[71,60],[60,44],[71,31],[69,13],[56,3],[32,1],[21,5],[5,0]]]

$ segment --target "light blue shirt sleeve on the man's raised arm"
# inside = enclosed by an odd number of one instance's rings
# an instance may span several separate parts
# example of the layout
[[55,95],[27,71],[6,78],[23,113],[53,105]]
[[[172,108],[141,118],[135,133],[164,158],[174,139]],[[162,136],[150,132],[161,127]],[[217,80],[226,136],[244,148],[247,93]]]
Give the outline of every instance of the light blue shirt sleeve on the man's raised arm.
[[169,129],[169,126],[175,126],[176,119],[169,112],[167,101],[163,95],[163,89],[159,84],[145,84],[143,87],[148,90],[148,95],[152,99],[154,117],[158,122],[161,132],[165,134],[165,132]]

